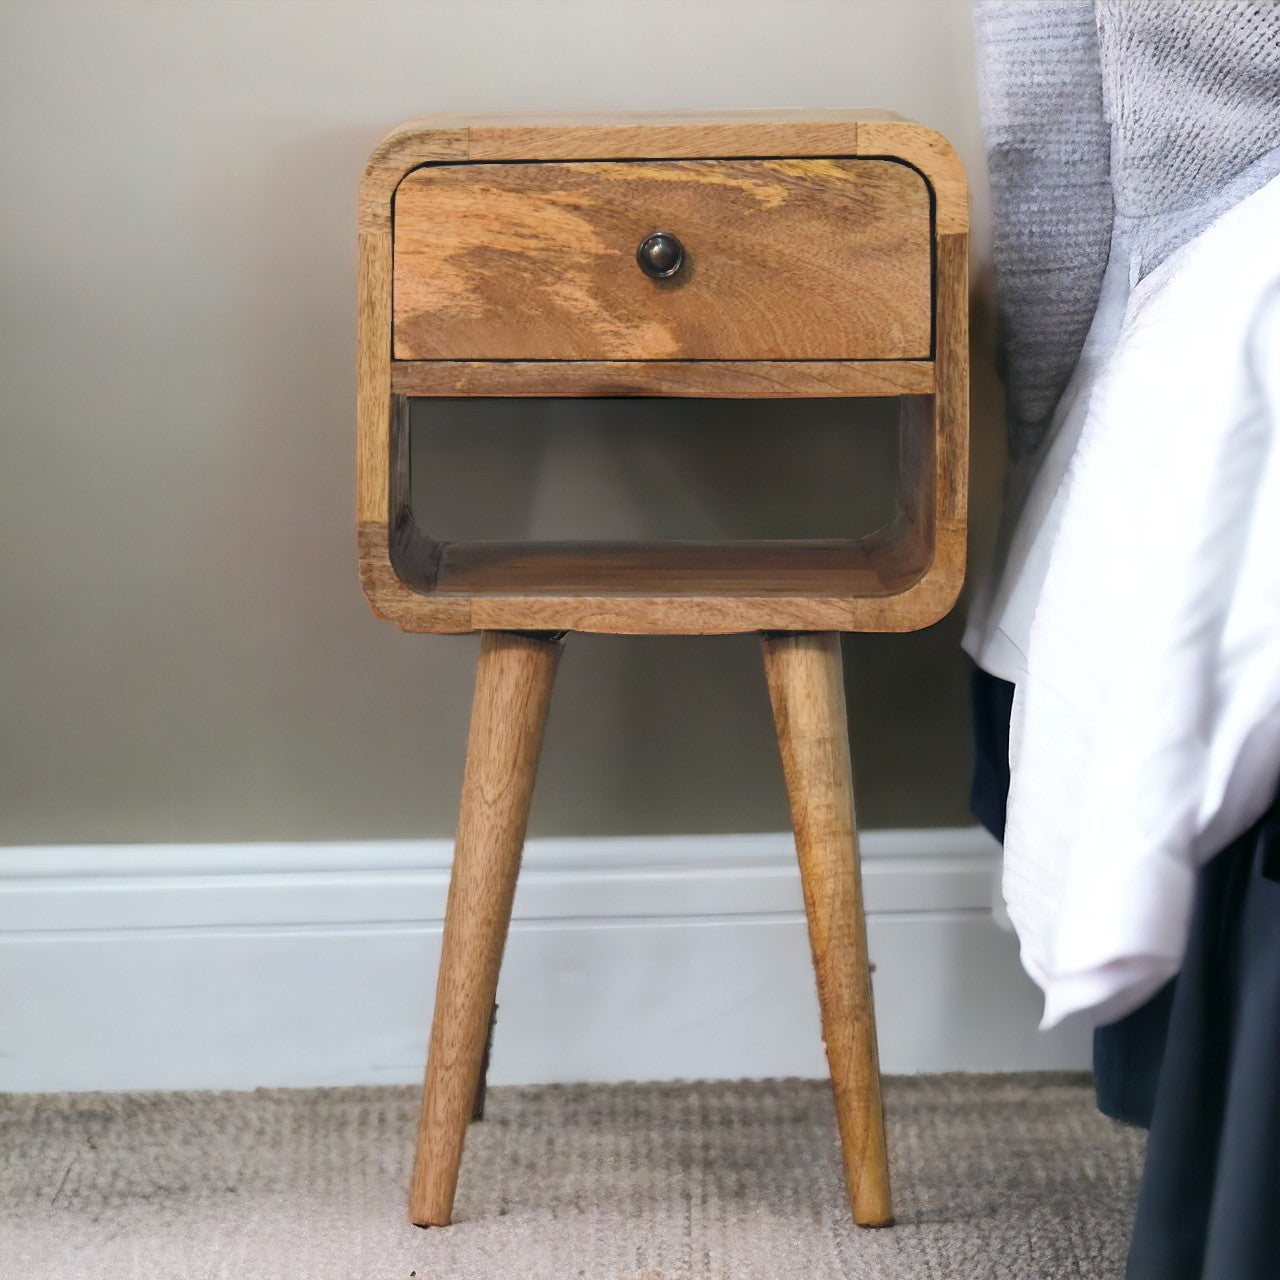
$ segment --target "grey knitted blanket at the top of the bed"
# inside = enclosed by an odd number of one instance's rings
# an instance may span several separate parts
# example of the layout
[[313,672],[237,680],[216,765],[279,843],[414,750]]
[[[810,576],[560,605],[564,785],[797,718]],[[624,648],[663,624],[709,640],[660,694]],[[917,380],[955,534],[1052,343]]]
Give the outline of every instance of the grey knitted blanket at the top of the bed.
[[975,0],[1010,457],[1080,355],[1112,230],[1138,273],[1280,173],[1280,3]]

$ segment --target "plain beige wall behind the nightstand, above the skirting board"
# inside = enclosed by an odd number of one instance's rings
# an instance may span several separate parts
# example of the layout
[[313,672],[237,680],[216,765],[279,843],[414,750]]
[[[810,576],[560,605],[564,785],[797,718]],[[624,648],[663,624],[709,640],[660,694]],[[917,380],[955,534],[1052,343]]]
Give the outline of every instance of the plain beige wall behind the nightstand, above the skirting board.
[[[475,643],[401,635],[355,573],[353,197],[398,120],[892,108],[968,163],[987,274],[963,0],[3,4],[0,97],[4,844],[451,829]],[[1000,428],[983,342],[984,512]],[[699,439],[728,438],[698,412]],[[873,506],[891,477],[869,412],[847,465]],[[470,461],[499,490],[529,475],[536,518],[575,494],[618,527],[684,518],[690,493],[728,525],[753,515],[714,476],[681,490],[669,438],[652,502],[635,498],[609,413],[549,426],[532,471],[518,449]],[[822,411],[796,434],[801,477],[849,449]],[[844,518],[841,500],[826,486],[815,518]],[[956,636],[849,643],[869,826],[968,820]],[[538,832],[785,820],[750,639],[570,643]]]

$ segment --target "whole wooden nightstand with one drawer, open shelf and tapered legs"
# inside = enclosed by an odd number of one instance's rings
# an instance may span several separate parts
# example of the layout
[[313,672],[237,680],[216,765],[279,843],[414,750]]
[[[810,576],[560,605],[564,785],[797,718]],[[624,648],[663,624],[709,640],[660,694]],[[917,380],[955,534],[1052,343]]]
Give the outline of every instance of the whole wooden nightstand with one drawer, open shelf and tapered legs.
[[[855,1221],[892,1220],[842,631],[955,603],[968,188],[877,111],[436,116],[360,192],[358,538],[374,611],[483,632],[410,1216],[447,1224],[561,639],[759,631]],[[861,538],[458,543],[408,493],[411,397],[901,398],[899,511]]]

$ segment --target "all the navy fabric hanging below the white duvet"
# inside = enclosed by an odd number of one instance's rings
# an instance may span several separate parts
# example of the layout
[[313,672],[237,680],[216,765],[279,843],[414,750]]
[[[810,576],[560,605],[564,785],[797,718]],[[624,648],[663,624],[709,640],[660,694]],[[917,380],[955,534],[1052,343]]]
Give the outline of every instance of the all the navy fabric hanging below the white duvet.
[[[974,672],[973,810],[1004,836],[1012,686]],[[1181,972],[1093,1039],[1098,1107],[1151,1129],[1126,1280],[1280,1280],[1280,791],[1196,883]]]

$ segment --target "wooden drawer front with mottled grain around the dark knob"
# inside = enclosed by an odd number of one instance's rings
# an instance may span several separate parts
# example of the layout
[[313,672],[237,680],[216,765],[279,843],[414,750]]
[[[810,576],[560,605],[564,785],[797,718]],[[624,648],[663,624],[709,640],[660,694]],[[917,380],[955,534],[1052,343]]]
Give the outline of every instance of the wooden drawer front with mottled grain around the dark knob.
[[[641,271],[675,234],[684,265]],[[393,211],[397,360],[927,360],[924,179],[890,160],[458,164]]]

